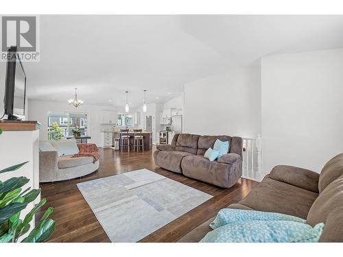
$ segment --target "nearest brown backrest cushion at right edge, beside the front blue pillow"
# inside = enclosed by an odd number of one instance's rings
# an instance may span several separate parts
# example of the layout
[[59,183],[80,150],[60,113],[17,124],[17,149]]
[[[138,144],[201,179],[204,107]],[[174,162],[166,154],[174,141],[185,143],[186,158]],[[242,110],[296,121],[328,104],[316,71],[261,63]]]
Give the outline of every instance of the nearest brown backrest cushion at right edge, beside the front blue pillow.
[[307,215],[307,223],[324,222],[321,242],[343,242],[343,175],[319,194]]

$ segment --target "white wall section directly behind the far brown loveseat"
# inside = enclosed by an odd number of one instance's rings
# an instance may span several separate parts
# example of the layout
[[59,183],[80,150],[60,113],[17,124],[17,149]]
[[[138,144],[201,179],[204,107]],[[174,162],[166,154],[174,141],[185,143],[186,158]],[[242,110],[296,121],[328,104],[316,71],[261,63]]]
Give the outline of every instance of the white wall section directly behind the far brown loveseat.
[[261,132],[259,66],[185,85],[184,132],[255,138]]

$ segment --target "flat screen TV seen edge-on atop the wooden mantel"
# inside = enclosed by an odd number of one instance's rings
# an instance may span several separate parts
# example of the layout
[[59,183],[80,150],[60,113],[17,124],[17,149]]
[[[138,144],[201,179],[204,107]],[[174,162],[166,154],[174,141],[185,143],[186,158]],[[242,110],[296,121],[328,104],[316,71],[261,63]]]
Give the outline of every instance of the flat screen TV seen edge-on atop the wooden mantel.
[[16,47],[8,49],[5,79],[5,114],[8,120],[19,120],[25,115],[26,75],[16,52]]

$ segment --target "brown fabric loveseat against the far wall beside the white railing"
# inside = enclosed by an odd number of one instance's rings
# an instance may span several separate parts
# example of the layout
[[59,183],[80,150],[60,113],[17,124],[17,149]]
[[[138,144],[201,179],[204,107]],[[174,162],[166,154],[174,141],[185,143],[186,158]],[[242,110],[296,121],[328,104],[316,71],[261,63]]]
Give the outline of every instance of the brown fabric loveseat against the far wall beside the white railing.
[[[210,162],[205,151],[215,140],[228,141],[228,154]],[[171,145],[158,145],[156,165],[209,184],[230,188],[241,178],[242,139],[237,136],[199,136],[176,134]]]

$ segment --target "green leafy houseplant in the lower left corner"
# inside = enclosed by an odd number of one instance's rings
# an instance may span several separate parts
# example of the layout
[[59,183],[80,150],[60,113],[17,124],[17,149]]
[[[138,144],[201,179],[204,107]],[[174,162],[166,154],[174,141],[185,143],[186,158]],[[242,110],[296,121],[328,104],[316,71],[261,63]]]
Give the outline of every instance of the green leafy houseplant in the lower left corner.
[[[0,134],[2,130],[0,128]],[[0,173],[16,171],[27,162],[16,164],[0,171]],[[40,194],[40,189],[27,188],[23,191],[23,186],[29,182],[25,177],[14,177],[4,182],[0,181],[0,243],[14,243],[19,240],[20,236],[25,235],[31,225],[29,224],[46,199],[41,199],[34,208],[27,213],[25,218],[20,219],[21,210],[27,207],[27,204],[34,201]],[[48,219],[53,208],[48,208],[45,214],[40,218],[38,224],[29,234],[21,241],[23,243],[40,243],[45,242],[55,230],[56,222]]]

